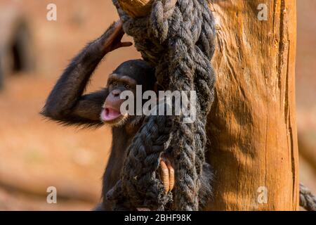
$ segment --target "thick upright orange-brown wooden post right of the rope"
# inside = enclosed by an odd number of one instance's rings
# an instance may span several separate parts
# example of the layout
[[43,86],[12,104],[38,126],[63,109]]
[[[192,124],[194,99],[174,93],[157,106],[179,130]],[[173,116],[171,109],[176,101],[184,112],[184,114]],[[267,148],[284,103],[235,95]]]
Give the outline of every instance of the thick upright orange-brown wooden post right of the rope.
[[207,209],[298,210],[296,1],[212,2],[218,79],[207,131],[216,176]]

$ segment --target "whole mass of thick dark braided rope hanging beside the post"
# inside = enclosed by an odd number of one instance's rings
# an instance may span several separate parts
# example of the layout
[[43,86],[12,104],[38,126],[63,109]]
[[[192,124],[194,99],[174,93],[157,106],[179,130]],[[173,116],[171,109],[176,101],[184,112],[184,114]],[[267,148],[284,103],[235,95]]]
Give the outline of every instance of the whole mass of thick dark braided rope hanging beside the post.
[[[197,91],[197,118],[186,124],[184,115],[147,117],[129,147],[121,180],[107,198],[116,210],[199,210],[206,115],[215,83],[210,60],[216,30],[208,1],[154,0],[152,13],[137,19],[124,13],[117,0],[113,3],[124,31],[134,38],[144,60],[156,68],[164,90]],[[159,159],[167,152],[176,161],[173,196],[164,193],[157,173]]]

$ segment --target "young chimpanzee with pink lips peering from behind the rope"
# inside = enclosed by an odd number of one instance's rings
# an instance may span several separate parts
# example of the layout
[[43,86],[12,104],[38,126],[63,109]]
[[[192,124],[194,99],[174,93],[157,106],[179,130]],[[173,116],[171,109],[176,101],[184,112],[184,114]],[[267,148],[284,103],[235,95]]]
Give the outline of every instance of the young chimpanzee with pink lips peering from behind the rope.
[[[121,21],[117,21],[101,37],[88,44],[67,66],[41,112],[65,125],[99,127],[109,124],[112,127],[112,150],[103,176],[103,203],[98,210],[112,210],[105,196],[119,180],[126,149],[143,122],[141,116],[121,115],[120,105],[124,100],[120,99],[120,94],[125,90],[135,94],[136,85],[142,85],[143,91],[157,89],[154,68],[144,60],[129,60],[112,72],[105,89],[83,95],[93,71],[103,57],[115,49],[132,45],[130,42],[121,42],[123,35]],[[172,160],[166,157],[161,159],[160,174],[165,191],[172,191]]]

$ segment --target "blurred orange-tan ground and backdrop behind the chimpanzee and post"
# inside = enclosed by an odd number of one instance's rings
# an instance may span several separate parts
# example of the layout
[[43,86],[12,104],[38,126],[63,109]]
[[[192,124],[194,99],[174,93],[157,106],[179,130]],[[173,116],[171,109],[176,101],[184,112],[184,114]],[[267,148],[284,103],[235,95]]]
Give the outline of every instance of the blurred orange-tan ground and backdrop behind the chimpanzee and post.
[[[70,59],[118,15],[108,0],[54,0],[57,21],[48,21],[51,3],[0,0],[0,210],[91,210],[100,200],[110,129],[60,127],[39,111]],[[297,4],[300,180],[316,193],[316,1]],[[131,58],[140,58],[133,47],[110,53],[88,91]],[[46,203],[48,186],[58,204]]]

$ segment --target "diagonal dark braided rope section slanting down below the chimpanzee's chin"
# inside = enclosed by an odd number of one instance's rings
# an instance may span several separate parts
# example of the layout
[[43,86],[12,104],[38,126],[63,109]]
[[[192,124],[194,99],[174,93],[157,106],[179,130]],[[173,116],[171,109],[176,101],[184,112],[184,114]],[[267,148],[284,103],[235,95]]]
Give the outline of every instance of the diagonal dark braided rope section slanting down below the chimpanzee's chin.
[[136,207],[159,206],[164,210],[171,195],[164,195],[164,186],[155,170],[162,152],[169,146],[171,124],[164,116],[146,117],[143,126],[129,146],[121,181],[109,193],[114,210],[136,210]]

